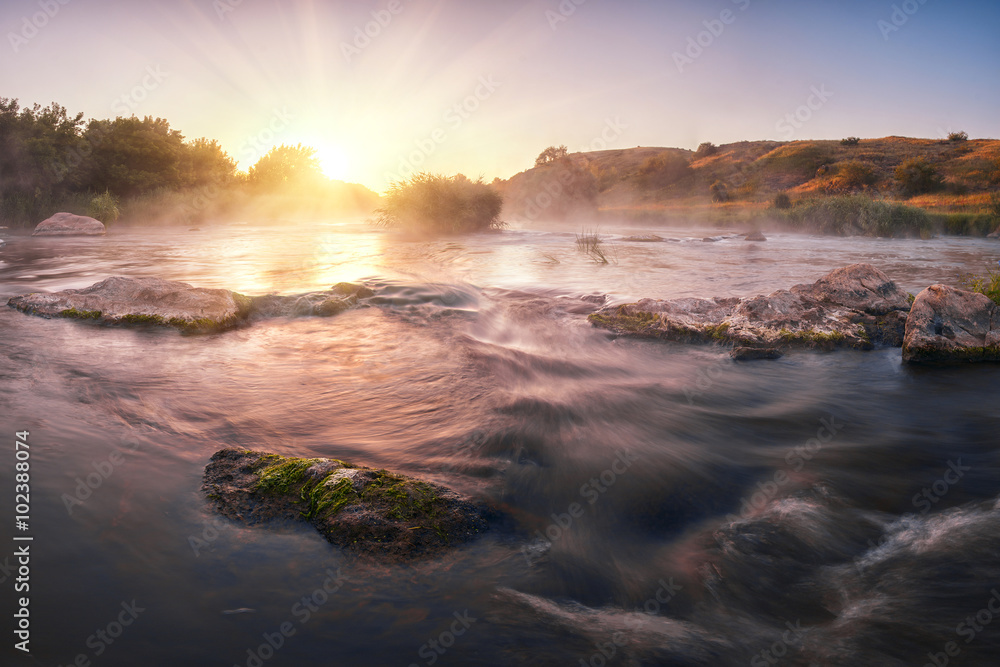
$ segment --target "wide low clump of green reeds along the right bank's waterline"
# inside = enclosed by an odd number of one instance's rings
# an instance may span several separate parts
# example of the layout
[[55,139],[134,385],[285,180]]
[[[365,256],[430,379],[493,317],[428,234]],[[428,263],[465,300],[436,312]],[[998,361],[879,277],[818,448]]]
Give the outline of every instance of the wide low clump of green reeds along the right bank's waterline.
[[790,226],[823,234],[849,236],[929,237],[934,229],[926,212],[865,195],[826,197],[800,203],[788,211]]

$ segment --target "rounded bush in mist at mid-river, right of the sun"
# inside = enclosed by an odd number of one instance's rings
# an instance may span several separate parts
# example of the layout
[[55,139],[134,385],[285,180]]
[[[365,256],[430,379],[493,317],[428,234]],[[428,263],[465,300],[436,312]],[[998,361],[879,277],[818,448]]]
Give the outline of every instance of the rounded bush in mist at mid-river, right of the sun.
[[373,222],[379,227],[441,232],[502,229],[502,208],[503,195],[482,179],[420,173],[389,186]]

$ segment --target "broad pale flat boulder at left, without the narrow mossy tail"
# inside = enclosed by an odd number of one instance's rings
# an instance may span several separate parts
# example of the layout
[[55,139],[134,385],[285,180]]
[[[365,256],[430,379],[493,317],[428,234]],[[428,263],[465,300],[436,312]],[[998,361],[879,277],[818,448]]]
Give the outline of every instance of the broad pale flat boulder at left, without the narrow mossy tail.
[[27,294],[7,302],[42,317],[108,324],[154,324],[186,331],[219,331],[249,316],[252,301],[225,289],[192,287],[160,278],[114,276],[84,289]]

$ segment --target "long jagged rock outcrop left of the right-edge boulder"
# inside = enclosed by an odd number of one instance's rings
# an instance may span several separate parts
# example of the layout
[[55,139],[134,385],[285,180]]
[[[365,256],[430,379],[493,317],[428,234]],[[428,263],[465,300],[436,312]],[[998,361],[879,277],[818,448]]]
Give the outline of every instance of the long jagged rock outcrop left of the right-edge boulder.
[[908,294],[870,264],[750,298],[643,299],[590,316],[622,335],[737,347],[863,350],[903,342]]

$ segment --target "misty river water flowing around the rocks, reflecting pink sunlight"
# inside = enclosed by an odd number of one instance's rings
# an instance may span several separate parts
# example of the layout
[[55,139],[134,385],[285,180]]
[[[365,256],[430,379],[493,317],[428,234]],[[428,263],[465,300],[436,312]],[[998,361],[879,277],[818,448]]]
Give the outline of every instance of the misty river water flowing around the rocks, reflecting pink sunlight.
[[[7,237],[4,301],[110,275],[246,294],[366,280],[385,298],[201,336],[0,309],[8,638],[16,431],[34,537],[32,655],[8,644],[3,664],[997,664],[1000,366],[735,363],[586,313],[854,262],[917,292],[1000,246],[629,228],[605,230],[601,265],[575,231]],[[620,238],[650,231],[680,241]],[[201,476],[233,446],[415,475],[503,519],[435,560],[359,562],[305,524],[220,520]]]

